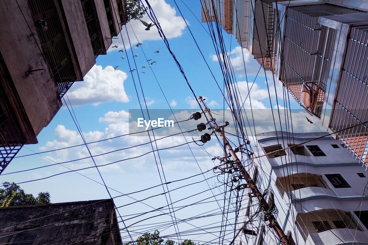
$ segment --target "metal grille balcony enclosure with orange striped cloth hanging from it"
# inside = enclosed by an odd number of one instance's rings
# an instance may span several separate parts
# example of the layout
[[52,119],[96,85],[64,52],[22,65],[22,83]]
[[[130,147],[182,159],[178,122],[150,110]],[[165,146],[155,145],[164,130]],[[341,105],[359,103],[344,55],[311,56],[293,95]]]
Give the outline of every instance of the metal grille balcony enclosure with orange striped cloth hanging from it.
[[316,4],[290,7],[287,10],[282,47],[280,80],[301,103],[301,89],[309,88],[310,97],[303,104],[320,117],[325,100],[325,82],[334,55],[336,30],[318,24],[318,17],[335,14],[361,13],[358,10]]

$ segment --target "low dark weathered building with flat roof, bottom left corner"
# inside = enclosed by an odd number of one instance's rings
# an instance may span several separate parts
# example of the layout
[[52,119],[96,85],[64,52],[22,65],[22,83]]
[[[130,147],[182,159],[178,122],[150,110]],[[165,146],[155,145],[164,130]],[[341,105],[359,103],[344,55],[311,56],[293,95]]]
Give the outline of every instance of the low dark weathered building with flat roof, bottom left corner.
[[122,244],[111,199],[0,208],[0,243]]

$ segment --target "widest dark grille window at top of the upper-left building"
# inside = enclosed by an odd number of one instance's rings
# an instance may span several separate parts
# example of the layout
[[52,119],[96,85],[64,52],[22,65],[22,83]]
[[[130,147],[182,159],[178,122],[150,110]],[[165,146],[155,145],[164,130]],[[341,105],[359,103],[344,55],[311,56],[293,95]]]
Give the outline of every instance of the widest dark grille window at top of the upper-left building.
[[[28,0],[41,46],[56,82],[60,97],[77,79],[63,25],[53,0]],[[45,21],[47,30],[40,25]]]

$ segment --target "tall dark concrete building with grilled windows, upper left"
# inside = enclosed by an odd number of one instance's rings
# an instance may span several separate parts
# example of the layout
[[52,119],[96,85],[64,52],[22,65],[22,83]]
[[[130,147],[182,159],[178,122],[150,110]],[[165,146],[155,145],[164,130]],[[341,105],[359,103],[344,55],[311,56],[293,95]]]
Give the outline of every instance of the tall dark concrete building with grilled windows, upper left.
[[124,0],[0,0],[0,174],[106,54],[127,21]]

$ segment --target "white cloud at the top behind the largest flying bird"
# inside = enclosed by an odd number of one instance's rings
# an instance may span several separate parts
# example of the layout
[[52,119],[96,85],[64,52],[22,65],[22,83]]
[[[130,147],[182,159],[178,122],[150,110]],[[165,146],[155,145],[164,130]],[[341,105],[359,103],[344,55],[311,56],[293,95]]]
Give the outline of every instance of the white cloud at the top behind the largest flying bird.
[[[151,0],[149,1],[149,4],[151,5],[152,10],[155,12],[155,15],[166,38],[177,38],[183,35],[186,25],[180,13],[177,13],[174,7],[171,7],[170,4],[166,3],[165,0]],[[148,15],[145,15],[142,20],[147,23],[152,23]],[[146,31],[146,26],[144,26],[141,21],[132,20],[127,23],[126,27],[128,30],[128,35],[125,31],[125,26],[123,26],[123,31],[121,34],[124,38],[125,47],[127,49],[129,48],[128,36],[130,37],[131,45],[138,43],[135,35],[141,43],[148,40],[161,40],[156,26],[152,26],[149,31]],[[121,36],[118,35],[118,38],[118,48],[110,48],[109,51],[120,50],[123,48]],[[116,41],[113,42],[113,45],[115,44]]]

